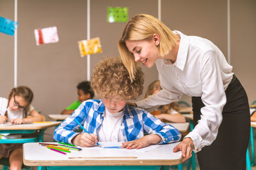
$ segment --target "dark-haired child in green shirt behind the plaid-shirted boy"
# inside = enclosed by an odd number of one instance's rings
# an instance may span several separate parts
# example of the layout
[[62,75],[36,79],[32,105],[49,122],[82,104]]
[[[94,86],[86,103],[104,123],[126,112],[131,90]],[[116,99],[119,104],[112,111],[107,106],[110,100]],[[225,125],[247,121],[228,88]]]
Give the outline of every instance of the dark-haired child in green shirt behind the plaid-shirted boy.
[[70,104],[65,110],[61,111],[62,115],[71,115],[78,106],[88,99],[92,99],[94,94],[91,90],[90,81],[82,81],[77,85],[77,101]]

